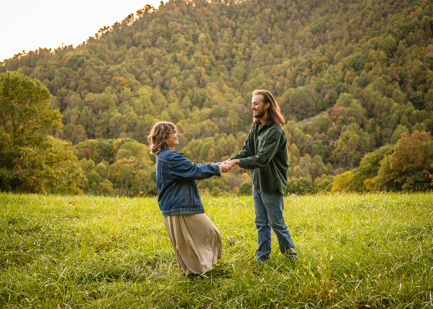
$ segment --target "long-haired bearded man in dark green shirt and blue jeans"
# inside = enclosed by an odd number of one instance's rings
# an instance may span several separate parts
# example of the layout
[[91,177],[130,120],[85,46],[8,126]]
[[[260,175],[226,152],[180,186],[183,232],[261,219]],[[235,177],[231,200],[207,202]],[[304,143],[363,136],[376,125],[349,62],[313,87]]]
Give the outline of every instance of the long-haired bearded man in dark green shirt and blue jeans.
[[250,169],[259,248],[256,264],[270,258],[271,227],[278,238],[282,254],[296,259],[297,252],[284,223],[284,190],[289,167],[287,136],[281,109],[267,90],[252,92],[253,124],[242,150],[225,161],[226,164]]

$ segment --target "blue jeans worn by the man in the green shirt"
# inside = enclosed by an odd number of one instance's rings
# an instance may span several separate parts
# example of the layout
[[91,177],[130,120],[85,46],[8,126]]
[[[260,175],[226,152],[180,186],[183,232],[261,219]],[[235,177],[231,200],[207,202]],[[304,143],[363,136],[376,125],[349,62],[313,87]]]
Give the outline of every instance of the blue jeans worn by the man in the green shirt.
[[259,248],[255,251],[257,262],[267,261],[271,255],[271,227],[277,235],[282,254],[296,259],[297,252],[287,225],[284,223],[284,199],[281,193],[265,193],[252,187],[255,226]]

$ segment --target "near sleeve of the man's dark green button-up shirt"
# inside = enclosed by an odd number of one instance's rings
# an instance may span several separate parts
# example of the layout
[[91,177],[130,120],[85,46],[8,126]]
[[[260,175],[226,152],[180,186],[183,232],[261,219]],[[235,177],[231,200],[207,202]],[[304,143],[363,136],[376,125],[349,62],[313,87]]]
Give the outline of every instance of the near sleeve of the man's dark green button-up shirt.
[[240,158],[240,167],[246,169],[255,169],[264,167],[274,157],[278,148],[281,146],[281,132],[272,130],[266,135],[258,136],[258,153],[248,158]]

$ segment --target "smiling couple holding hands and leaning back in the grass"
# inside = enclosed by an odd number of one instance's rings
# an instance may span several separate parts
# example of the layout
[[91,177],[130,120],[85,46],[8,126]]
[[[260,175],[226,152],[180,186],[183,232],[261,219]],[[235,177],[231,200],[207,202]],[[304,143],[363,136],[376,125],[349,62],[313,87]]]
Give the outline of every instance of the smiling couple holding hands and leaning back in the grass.
[[186,275],[202,275],[222,258],[220,231],[204,214],[197,182],[227,173],[234,165],[250,170],[258,235],[256,264],[270,258],[271,228],[282,254],[296,259],[290,232],[284,223],[283,195],[287,184],[288,151],[280,107],[267,90],[252,92],[253,124],[242,150],[220,163],[195,164],[174,148],[179,144],[172,122],[157,122],[149,137],[156,156],[158,205],[178,266]]

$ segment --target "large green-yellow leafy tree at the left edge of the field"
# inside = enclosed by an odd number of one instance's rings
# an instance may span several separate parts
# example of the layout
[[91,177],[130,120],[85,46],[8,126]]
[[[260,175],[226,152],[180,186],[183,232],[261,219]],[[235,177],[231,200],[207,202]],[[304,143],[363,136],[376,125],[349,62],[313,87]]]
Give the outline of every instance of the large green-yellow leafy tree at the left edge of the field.
[[79,192],[81,172],[71,145],[48,135],[61,128],[49,98],[39,80],[16,71],[0,74],[1,190]]

